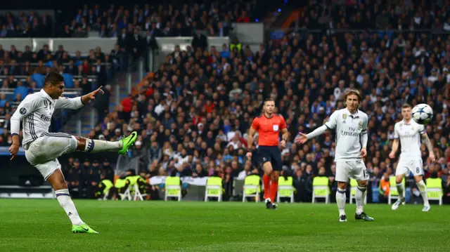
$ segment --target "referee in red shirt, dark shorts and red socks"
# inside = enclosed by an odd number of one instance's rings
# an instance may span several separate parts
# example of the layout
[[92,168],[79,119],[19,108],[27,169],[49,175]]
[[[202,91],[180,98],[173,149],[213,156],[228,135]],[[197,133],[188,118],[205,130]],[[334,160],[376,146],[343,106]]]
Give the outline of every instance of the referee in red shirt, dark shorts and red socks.
[[264,168],[262,182],[264,183],[264,200],[267,209],[276,209],[275,197],[278,191],[278,177],[282,170],[281,150],[278,147],[280,131],[283,133],[283,140],[279,143],[282,148],[286,147],[288,140],[288,128],[283,117],[274,114],[275,102],[272,99],[264,100],[263,114],[253,119],[252,126],[248,133],[247,158],[252,158],[251,148],[253,138],[258,132],[258,151],[261,157],[261,164]]

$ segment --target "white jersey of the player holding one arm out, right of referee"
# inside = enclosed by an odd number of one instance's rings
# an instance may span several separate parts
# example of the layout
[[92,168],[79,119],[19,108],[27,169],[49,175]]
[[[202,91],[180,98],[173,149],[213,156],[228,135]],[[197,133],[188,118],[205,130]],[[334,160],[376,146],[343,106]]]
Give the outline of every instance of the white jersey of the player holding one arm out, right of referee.
[[350,114],[347,108],[336,110],[325,123],[336,130],[335,161],[361,160],[361,135],[367,134],[367,114],[357,110]]

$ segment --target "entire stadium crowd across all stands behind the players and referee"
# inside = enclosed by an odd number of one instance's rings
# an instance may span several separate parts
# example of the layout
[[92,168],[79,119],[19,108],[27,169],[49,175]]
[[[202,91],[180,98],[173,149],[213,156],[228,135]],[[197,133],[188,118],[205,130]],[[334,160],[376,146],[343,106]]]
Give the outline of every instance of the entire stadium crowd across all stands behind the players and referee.
[[[259,1],[229,0],[131,8],[84,4],[66,15],[60,22],[63,25],[52,28],[56,36],[86,37],[96,32],[98,37],[117,37],[115,50],[103,52],[98,45],[82,56],[69,55],[64,48],[32,52],[30,48],[0,47],[1,87],[19,90],[11,98],[0,96],[0,115],[11,117],[11,102],[23,99],[29,88],[40,87],[33,74],[57,67],[60,72],[81,76],[72,86],[87,93],[108,84],[115,72],[127,67],[128,58],[136,60],[146,57],[149,50],[158,50],[155,37],[193,37],[191,46],[186,50],[176,47],[158,70],[150,72],[146,66],[148,75],[120,105],[110,107],[108,99],[102,100],[98,124],[84,136],[119,140],[139,131],[128,157],[139,160],[137,172],[143,177],[219,175],[230,193],[227,188],[234,179],[262,175],[257,150],[250,161],[245,159],[244,148],[262,101],[273,98],[290,132],[288,146],[282,150],[283,175],[293,176],[296,201],[311,201],[315,176],[326,176],[330,188],[337,187],[333,132],[307,145],[296,145],[293,139],[299,132],[321,126],[331,113],[344,107],[342,94],[356,88],[363,97],[360,109],[369,116],[366,166],[371,174],[371,201],[386,201],[389,188],[383,181],[394,174],[397,162],[388,157],[394,124],[401,119],[401,105],[408,102],[427,103],[435,112],[426,131],[437,161],[428,163],[423,146],[425,178],[442,178],[448,202],[449,1],[284,2],[264,6]],[[269,34],[258,50],[232,37],[231,23],[263,22],[269,11],[281,13],[276,4],[289,4],[296,10],[295,22],[288,24],[282,36]],[[0,37],[48,37],[45,27],[55,25],[46,15],[33,13],[6,13],[0,20]],[[208,44],[207,37],[227,36],[231,37],[229,44]],[[88,74],[96,75],[98,81],[88,83]],[[14,75],[30,77],[15,81]],[[8,146],[7,121],[0,135],[2,146]],[[67,180],[76,186],[96,187],[100,174],[114,173],[109,161],[81,162],[72,157],[61,161]],[[412,180],[409,187],[411,199],[420,201]]]

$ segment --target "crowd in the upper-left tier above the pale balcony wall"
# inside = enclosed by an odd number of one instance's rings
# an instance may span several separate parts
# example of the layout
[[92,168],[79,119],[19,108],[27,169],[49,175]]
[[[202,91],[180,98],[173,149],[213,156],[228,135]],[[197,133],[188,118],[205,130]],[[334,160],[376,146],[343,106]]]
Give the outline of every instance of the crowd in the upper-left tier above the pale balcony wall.
[[[195,29],[205,29],[208,36],[227,36],[232,22],[255,22],[264,18],[273,1],[210,1],[205,4],[82,4],[73,15],[62,15],[51,34],[53,19],[47,13],[11,12],[0,16],[0,37],[120,37],[122,30],[147,31],[155,37],[193,36]],[[142,1],[142,3],[145,3]],[[68,10],[65,13],[71,13]]]

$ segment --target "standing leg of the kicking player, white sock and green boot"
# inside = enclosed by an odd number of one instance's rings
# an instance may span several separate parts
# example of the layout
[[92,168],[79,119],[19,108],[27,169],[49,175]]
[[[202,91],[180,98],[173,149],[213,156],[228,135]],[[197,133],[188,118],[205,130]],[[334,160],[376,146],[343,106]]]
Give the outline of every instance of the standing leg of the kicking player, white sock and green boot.
[[[58,199],[60,206],[64,209],[65,213],[67,213],[70,221],[72,222],[72,232],[98,234],[98,232],[91,229],[91,227],[89,227],[86,223],[83,222],[81,218],[79,218],[77,208],[70,198],[68,185],[67,183],[65,183],[63,173],[60,170],[58,159],[55,159],[55,161],[47,162],[46,164],[40,164],[39,166],[58,167],[53,171],[53,173],[51,173],[51,175],[49,175],[47,181],[49,181],[49,183],[53,187],[53,190],[55,190],[56,199]],[[40,167],[40,170],[41,169],[42,167]]]

